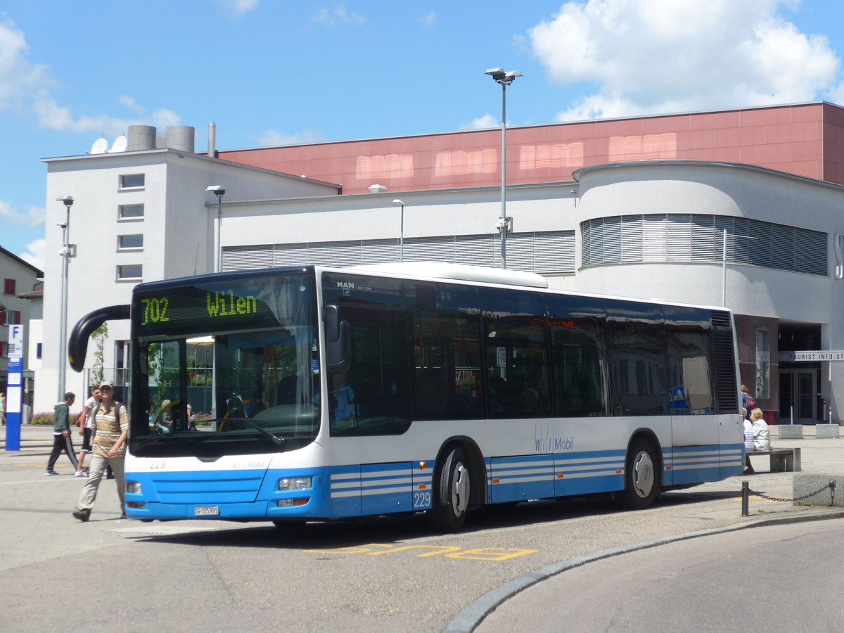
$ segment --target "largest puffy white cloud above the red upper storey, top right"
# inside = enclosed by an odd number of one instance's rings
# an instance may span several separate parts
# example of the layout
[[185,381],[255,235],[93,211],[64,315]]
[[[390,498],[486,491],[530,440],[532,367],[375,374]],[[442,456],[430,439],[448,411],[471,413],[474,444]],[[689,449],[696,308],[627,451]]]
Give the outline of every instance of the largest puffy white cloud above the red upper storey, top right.
[[558,120],[762,106],[838,94],[822,35],[783,19],[793,0],[568,2],[527,35],[558,84],[596,85]]

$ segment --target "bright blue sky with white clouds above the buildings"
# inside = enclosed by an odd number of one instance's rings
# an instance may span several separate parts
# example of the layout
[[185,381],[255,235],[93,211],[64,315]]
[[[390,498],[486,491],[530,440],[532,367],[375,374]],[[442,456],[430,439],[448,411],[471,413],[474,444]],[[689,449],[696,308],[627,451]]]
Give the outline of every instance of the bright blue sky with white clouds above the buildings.
[[[43,268],[44,158],[133,124],[241,149],[827,100],[841,0],[3,0],[0,246]],[[73,195],[73,192],[68,192]],[[84,213],[77,199],[74,213]]]

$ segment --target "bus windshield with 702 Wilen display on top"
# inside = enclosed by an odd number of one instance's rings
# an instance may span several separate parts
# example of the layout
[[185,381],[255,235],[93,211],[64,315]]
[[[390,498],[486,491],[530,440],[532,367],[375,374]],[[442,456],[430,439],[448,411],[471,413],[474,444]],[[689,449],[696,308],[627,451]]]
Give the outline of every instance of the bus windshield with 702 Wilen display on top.
[[133,454],[268,453],[316,438],[311,277],[161,282],[133,302]]

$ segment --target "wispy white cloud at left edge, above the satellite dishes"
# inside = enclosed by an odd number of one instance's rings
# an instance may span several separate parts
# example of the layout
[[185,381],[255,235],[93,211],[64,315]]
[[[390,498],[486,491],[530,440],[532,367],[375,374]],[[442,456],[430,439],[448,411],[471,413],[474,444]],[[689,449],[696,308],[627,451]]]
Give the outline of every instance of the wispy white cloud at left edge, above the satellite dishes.
[[35,114],[40,127],[61,132],[125,133],[133,123],[175,125],[180,117],[160,109],[145,115],[144,109],[129,96],[119,102],[136,116],[127,119],[106,114],[74,116],[68,106],[62,106],[51,94],[58,85],[45,64],[28,61],[29,47],[24,32],[12,20],[0,14],[0,109]]

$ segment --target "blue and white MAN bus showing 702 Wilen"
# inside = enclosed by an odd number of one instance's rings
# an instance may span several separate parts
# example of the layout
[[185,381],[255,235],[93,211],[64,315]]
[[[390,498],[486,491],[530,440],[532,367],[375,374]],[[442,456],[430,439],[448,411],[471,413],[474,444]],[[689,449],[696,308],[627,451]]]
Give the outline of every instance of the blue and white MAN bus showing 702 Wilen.
[[74,369],[114,318],[132,321],[135,519],[425,511],[454,531],[473,507],[614,493],[640,508],[743,469],[722,308],[453,264],[215,273],[89,314]]

